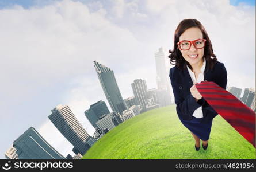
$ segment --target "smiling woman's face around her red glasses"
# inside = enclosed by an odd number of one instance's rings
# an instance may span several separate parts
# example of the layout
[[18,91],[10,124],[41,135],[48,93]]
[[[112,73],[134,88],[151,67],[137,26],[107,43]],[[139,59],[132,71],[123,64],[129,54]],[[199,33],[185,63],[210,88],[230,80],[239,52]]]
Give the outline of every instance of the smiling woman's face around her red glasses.
[[[185,30],[184,33],[179,37],[179,41],[194,41],[197,39],[202,39],[203,35],[200,29],[196,27],[189,28]],[[202,61],[202,57],[204,56],[204,48],[196,49],[192,44],[189,50],[181,50],[182,56],[184,59],[192,66],[195,67],[197,64],[200,64]]]

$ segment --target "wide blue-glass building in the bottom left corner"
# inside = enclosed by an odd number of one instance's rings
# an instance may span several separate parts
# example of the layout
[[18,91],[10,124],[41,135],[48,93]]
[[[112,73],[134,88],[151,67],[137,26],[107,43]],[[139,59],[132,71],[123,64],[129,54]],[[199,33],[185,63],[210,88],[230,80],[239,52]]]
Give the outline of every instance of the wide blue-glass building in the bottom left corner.
[[66,159],[35,128],[30,127],[5,153],[7,159]]

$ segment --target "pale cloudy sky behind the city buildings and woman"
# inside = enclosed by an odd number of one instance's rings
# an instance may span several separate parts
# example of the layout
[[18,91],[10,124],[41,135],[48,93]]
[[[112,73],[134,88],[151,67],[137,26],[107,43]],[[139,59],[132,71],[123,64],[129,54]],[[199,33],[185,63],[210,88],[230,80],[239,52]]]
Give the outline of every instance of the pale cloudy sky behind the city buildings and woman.
[[135,79],[156,88],[154,54],[163,47],[168,74],[174,31],[185,18],[204,25],[227,86],[255,88],[255,1],[0,0],[0,159],[31,126],[62,155],[74,155],[49,121],[51,110],[68,105],[93,136],[84,112],[100,100],[112,111],[93,61],[113,69],[123,99],[133,96]]

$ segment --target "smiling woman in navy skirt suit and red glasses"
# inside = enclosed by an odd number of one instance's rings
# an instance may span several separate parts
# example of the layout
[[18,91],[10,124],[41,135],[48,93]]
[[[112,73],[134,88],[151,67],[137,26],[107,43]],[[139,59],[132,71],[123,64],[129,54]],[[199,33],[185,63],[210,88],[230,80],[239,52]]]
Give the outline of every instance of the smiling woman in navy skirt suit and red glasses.
[[181,123],[190,130],[196,151],[208,147],[212,120],[217,112],[197,91],[196,83],[213,81],[226,89],[227,71],[217,61],[211,40],[197,19],[182,20],[174,33],[174,48],[169,50],[170,81],[175,97],[176,111]]

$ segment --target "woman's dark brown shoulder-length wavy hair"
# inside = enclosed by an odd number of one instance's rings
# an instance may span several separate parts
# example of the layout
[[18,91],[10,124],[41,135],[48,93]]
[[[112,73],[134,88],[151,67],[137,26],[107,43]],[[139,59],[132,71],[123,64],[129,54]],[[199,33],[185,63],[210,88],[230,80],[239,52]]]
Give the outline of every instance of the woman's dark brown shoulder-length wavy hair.
[[176,65],[181,70],[185,69],[186,65],[188,65],[188,67],[192,69],[191,65],[184,59],[184,57],[182,57],[181,51],[178,49],[178,45],[177,45],[177,42],[179,41],[179,37],[181,36],[181,34],[184,33],[186,29],[189,29],[192,27],[196,27],[200,29],[202,32],[203,38],[206,39],[203,58],[205,58],[206,60],[208,69],[209,68],[212,69],[217,61],[217,58],[213,53],[212,43],[210,38],[208,37],[208,34],[204,26],[202,26],[202,24],[197,19],[184,19],[179,23],[174,33],[173,50],[169,50],[169,53],[171,53],[168,56],[170,58],[170,64]]

